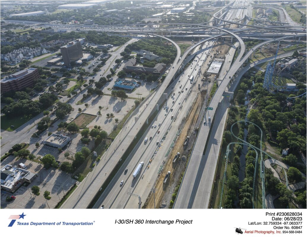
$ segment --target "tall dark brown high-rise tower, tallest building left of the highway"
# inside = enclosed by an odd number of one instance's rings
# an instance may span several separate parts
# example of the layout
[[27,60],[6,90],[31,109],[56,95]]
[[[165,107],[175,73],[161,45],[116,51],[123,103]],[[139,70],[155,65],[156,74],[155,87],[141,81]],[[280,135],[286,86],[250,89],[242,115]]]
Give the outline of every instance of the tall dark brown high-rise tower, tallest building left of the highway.
[[71,62],[75,62],[83,57],[80,39],[71,41],[67,45],[60,47],[60,49],[65,66],[69,67]]

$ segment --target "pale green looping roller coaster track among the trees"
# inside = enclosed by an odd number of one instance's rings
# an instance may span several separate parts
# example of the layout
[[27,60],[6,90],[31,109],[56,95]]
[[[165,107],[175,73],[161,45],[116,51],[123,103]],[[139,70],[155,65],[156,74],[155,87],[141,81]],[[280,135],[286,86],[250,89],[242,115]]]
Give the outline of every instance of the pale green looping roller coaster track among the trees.
[[[254,126],[256,126],[257,128],[259,128],[260,132],[261,132],[261,136],[260,136],[260,148],[258,147],[255,147],[254,145],[252,145],[251,143],[248,143],[244,140],[242,140],[241,138],[235,136],[235,134],[232,132],[232,128],[235,124],[237,123],[250,123],[250,124],[253,124]],[[288,177],[287,177],[287,173],[286,173],[286,170],[283,168],[283,166],[276,160],[274,159],[273,157],[271,157],[269,154],[267,154],[265,151],[262,151],[262,129],[257,125],[257,124],[254,124],[250,121],[245,121],[245,120],[240,120],[240,121],[237,121],[235,122],[234,124],[231,125],[231,128],[230,128],[230,132],[231,132],[231,135],[234,136],[236,139],[238,139],[239,141],[241,141],[242,143],[240,142],[232,142],[232,143],[229,143],[227,145],[227,150],[226,150],[226,163],[225,163],[225,170],[224,170],[224,175],[223,175],[223,182],[222,182],[222,190],[221,190],[221,195],[220,195],[220,206],[219,208],[221,208],[222,206],[222,198],[223,198],[223,191],[224,191],[224,184],[226,183],[226,174],[227,174],[227,163],[228,163],[228,156],[230,154],[230,149],[229,149],[229,146],[231,144],[240,144],[240,145],[247,145],[251,148],[253,148],[253,150],[256,152],[256,158],[255,158],[255,171],[254,171],[254,180],[253,180],[253,196],[252,196],[252,203],[253,203],[253,208],[255,208],[255,205],[254,205],[254,193],[255,193],[255,178],[256,178],[256,170],[257,170],[257,162],[258,162],[258,151],[260,151],[260,156],[261,156],[261,161],[260,161],[260,178],[261,178],[261,181],[262,181],[262,208],[266,208],[266,205],[265,205],[265,174],[264,174],[264,162],[263,162],[263,156],[262,156],[262,153],[264,153],[265,155],[267,155],[268,157],[270,157],[272,160],[274,160],[274,162],[276,162],[280,167],[282,167],[282,170],[284,171],[285,173],[285,178],[286,178],[286,187],[289,187],[289,183],[288,183]]]

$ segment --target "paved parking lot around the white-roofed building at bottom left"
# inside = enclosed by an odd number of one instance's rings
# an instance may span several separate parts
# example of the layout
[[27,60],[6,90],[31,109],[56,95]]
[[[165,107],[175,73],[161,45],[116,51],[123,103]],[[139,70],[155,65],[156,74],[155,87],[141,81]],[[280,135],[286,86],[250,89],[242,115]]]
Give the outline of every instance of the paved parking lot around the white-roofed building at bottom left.
[[[60,199],[64,196],[76,180],[70,178],[69,174],[61,170],[49,168],[45,170],[43,165],[29,160],[10,161],[11,165],[18,165],[23,162],[29,171],[37,174],[37,178],[33,180],[27,187],[21,186],[13,195],[16,199],[6,202],[6,197],[12,195],[1,190],[1,208],[54,208]],[[4,164],[2,164],[3,166]],[[40,188],[40,195],[36,196],[31,192],[31,187],[37,185]],[[50,192],[50,200],[44,198],[45,191]],[[48,202],[48,203],[47,203]]]

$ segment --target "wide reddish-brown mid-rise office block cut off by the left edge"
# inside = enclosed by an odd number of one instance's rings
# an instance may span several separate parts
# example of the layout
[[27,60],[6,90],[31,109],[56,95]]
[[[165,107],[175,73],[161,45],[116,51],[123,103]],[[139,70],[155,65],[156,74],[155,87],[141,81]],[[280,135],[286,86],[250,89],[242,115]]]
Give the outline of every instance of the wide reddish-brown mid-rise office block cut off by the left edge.
[[33,80],[39,78],[37,68],[21,70],[1,79],[1,92],[21,90],[33,86]]

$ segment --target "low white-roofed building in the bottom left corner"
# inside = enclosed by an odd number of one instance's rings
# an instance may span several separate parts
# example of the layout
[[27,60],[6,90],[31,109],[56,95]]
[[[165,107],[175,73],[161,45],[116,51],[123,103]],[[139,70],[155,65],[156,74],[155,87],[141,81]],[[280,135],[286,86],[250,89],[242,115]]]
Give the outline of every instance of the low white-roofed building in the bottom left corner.
[[14,193],[25,182],[31,183],[37,177],[28,170],[11,165],[5,165],[0,173],[1,189],[10,193]]

